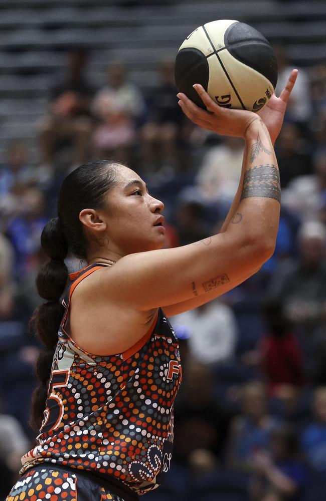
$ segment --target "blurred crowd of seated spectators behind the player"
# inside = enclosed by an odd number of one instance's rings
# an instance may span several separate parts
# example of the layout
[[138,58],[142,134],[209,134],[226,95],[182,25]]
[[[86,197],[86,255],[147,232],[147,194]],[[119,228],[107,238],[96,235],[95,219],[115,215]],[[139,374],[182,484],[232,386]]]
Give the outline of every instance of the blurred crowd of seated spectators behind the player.
[[[278,59],[278,94],[291,64]],[[61,181],[94,158],[136,170],[165,202],[167,246],[219,231],[236,192],[243,142],[193,126],[177,104],[174,62],[144,93],[120,63],[94,88],[91,53],[67,54],[39,124],[39,161],[8,144],[0,165],[0,494],[35,440],[29,421],[39,351],[40,234]],[[275,150],[282,207],[273,257],[225,296],[171,319],[184,383],[175,453],[148,501],[322,501],[326,488],[326,65],[299,68]],[[73,257],[71,271],[82,267]],[[192,493],[190,496],[189,493]]]

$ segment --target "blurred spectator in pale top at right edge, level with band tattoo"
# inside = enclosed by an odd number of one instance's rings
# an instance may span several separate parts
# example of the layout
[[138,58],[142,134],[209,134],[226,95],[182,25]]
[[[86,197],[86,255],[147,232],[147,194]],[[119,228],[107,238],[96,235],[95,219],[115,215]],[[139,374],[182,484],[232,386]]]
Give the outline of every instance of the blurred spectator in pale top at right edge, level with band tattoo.
[[282,204],[296,213],[302,220],[316,218],[324,206],[326,147],[320,147],[315,151],[312,162],[313,174],[293,178],[282,190]]

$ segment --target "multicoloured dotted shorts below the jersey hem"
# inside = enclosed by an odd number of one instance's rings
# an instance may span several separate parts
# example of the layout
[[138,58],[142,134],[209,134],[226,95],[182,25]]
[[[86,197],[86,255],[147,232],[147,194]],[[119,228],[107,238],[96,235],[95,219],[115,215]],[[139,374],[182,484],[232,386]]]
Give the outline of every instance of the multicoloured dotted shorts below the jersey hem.
[[30,469],[20,478],[6,501],[123,501],[104,487],[55,468]]

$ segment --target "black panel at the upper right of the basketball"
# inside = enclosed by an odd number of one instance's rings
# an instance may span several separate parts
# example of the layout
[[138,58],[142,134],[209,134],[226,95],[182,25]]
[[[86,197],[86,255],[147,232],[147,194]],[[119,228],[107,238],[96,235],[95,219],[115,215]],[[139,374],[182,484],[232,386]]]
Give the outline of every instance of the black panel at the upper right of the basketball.
[[226,30],[224,43],[232,56],[264,75],[275,89],[276,58],[273,49],[261,33],[245,23],[235,23]]

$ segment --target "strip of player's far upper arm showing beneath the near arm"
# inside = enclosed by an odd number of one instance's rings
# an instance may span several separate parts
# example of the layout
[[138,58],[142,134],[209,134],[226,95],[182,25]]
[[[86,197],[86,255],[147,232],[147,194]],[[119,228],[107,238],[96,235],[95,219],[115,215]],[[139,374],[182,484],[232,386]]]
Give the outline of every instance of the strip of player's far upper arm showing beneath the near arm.
[[180,313],[193,310],[198,306],[205,305],[206,303],[209,303],[213,299],[216,299],[219,296],[222,296],[223,294],[231,291],[231,289],[234,289],[234,287],[237,287],[238,285],[242,284],[243,282],[245,282],[245,280],[252,277],[252,275],[257,273],[259,270],[260,268],[257,268],[257,270],[254,270],[252,273],[243,275],[242,277],[239,277],[238,280],[227,283],[225,283],[225,276],[221,275],[221,285],[218,286],[216,289],[212,289],[211,291],[208,291],[206,294],[203,294],[201,296],[196,296],[192,299],[188,299],[187,301],[182,301],[181,303],[165,306],[163,308],[164,314],[167,317],[173,317],[174,315],[179,315]]

